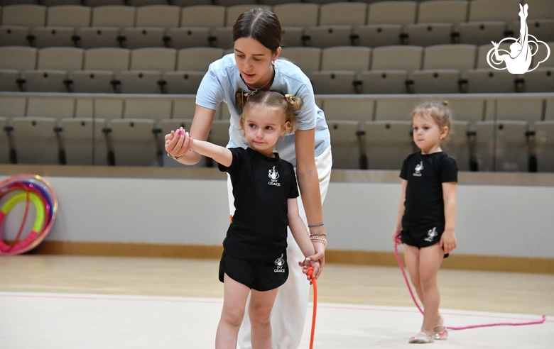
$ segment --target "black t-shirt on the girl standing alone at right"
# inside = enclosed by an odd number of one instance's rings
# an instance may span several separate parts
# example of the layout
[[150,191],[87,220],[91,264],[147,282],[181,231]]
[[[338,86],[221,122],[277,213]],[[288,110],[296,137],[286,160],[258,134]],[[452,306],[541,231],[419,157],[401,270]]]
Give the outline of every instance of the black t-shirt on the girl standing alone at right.
[[458,168],[446,153],[413,153],[402,164],[400,177],[408,181],[402,228],[445,221],[442,183],[457,182]]

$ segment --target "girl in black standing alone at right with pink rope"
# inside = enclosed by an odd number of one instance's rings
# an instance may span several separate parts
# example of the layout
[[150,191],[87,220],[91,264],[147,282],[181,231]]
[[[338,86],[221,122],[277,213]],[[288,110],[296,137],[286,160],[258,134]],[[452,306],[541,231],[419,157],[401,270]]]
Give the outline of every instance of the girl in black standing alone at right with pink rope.
[[400,174],[402,195],[393,240],[404,244],[406,267],[425,309],[421,330],[410,343],[448,336],[439,311],[437,276],[443,258],[456,248],[457,167],[440,148],[451,119],[445,102],[428,102],[413,111],[413,141],[420,151],[406,157]]

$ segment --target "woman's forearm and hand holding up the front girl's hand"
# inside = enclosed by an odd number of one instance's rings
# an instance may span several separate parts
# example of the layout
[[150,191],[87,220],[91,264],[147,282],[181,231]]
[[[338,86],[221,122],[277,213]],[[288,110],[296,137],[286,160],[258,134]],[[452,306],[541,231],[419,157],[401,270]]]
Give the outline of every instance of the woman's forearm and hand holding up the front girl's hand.
[[[189,130],[190,135],[193,135],[195,140],[207,140],[214,121],[214,115],[215,111],[213,109],[196,106],[195,116],[192,119],[192,125]],[[169,143],[168,140],[170,140]],[[186,138],[184,134],[179,135],[175,133],[175,131],[165,135],[165,151],[173,157],[184,155],[178,160],[178,162],[184,165],[194,165],[200,161],[200,154],[190,150],[190,139]]]

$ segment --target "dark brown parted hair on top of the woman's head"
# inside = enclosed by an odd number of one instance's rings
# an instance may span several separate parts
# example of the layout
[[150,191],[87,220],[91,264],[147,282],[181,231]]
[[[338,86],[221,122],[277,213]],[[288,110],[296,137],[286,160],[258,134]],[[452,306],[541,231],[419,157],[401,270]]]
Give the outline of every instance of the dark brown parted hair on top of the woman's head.
[[242,13],[233,26],[233,43],[240,38],[253,38],[275,52],[281,46],[283,31],[275,13],[268,9],[251,9]]

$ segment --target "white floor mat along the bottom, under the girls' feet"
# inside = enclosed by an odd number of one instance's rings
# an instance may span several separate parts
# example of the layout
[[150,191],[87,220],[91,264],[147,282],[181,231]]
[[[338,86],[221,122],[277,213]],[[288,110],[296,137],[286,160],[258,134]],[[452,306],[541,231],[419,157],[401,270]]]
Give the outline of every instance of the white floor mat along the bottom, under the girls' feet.
[[[222,299],[0,292],[0,348],[214,347]],[[303,343],[309,348],[312,309]],[[450,311],[447,326],[523,322],[541,316]],[[314,349],[413,348],[418,310],[393,306],[319,304]],[[554,318],[531,326],[450,331],[442,348],[554,348]]]

